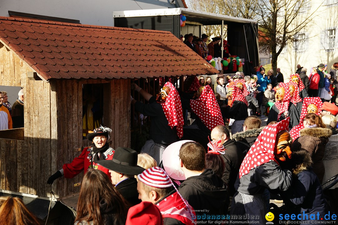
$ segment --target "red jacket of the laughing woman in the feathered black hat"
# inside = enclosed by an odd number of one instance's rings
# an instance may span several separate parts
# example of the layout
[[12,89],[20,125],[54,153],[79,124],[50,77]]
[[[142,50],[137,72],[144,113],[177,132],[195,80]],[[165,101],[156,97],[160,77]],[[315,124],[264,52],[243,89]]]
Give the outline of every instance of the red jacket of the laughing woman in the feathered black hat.
[[[83,148],[81,154],[78,157],[76,157],[75,159],[73,159],[73,161],[71,163],[64,164],[63,167],[62,167],[63,172],[64,172],[64,176],[66,178],[73,178],[77,174],[82,172],[82,170],[84,170],[84,173],[86,173],[89,168],[94,168],[94,169],[99,169],[99,170],[103,171],[105,174],[108,175],[109,178],[111,178],[110,172],[107,168],[105,168],[105,167],[103,167],[100,164],[97,164],[95,162],[93,162],[93,165],[92,165],[91,160],[94,160],[95,154],[92,155],[91,152],[92,152],[92,148],[88,148],[88,147]],[[115,150],[113,148],[108,148],[103,153],[105,160],[112,160],[114,152],[115,152]]]

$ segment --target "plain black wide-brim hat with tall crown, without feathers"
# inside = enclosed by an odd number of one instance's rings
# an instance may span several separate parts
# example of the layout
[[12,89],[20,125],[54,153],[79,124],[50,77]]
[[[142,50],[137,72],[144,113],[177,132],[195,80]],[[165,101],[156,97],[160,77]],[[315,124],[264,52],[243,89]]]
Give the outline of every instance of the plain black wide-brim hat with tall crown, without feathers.
[[99,160],[98,164],[118,173],[138,175],[145,169],[137,165],[137,156],[131,148],[117,147],[112,160]]

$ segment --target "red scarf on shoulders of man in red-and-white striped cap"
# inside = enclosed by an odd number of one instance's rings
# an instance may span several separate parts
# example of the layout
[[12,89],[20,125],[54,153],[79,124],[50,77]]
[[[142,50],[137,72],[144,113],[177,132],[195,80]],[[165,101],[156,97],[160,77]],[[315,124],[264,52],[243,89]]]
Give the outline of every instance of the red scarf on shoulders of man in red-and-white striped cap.
[[[157,203],[156,206],[160,209],[163,218],[174,218],[187,225],[191,225],[196,221],[196,214],[193,208],[188,204],[189,208],[187,209],[187,206],[177,192],[169,195]],[[191,218],[189,211],[191,211],[195,219]]]

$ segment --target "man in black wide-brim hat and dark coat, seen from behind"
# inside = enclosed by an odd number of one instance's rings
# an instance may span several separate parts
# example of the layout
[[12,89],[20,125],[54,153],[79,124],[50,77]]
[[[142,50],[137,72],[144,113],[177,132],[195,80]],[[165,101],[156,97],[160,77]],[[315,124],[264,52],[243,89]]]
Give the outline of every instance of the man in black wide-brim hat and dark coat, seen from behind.
[[113,160],[102,160],[99,164],[111,174],[112,183],[116,190],[134,206],[139,204],[139,193],[137,192],[137,180],[134,175],[144,171],[137,165],[137,152],[130,148],[118,147],[115,150]]

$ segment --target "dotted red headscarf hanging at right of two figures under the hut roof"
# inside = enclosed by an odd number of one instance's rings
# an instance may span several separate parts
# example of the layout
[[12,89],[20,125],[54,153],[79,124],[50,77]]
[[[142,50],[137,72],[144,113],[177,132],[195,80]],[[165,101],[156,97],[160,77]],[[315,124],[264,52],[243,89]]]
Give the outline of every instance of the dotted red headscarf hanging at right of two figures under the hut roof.
[[221,110],[209,85],[204,86],[198,99],[190,100],[190,107],[209,130],[214,129],[215,126],[224,125]]

